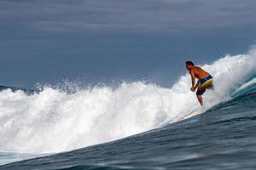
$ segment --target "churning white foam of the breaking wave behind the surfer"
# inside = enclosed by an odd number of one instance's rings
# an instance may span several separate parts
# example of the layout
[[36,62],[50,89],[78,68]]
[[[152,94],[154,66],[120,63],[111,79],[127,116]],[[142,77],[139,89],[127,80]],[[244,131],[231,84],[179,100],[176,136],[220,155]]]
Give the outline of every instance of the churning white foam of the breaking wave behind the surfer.
[[215,86],[204,95],[204,108],[190,91],[189,74],[171,88],[123,82],[118,88],[96,86],[74,93],[47,86],[33,94],[4,89],[0,154],[20,153],[27,158],[76,150],[165,127],[191,111],[208,111],[255,83],[256,49],[201,66],[211,73]]

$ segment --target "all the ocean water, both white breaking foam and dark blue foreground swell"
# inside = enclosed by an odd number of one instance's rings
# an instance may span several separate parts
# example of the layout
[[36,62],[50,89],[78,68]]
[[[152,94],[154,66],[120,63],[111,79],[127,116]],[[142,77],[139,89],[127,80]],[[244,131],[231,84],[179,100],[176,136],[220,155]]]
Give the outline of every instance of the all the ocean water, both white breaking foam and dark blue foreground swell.
[[201,66],[215,85],[203,108],[188,74],[170,88],[3,88],[0,169],[255,169],[256,50]]

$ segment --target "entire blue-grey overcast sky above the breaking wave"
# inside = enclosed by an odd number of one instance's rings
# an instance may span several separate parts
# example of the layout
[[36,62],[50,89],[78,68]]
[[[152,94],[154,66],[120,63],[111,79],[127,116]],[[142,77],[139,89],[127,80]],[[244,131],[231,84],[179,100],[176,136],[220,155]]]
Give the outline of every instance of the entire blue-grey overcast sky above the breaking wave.
[[174,70],[166,76],[175,79],[183,60],[245,52],[255,11],[254,0],[1,0],[0,84]]

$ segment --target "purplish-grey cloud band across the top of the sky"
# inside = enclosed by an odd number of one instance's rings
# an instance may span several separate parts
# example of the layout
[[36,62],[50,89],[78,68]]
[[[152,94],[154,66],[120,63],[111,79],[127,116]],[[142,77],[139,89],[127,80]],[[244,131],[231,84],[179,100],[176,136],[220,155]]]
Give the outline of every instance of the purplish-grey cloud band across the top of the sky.
[[43,31],[183,31],[256,23],[253,1],[2,0],[1,26]]

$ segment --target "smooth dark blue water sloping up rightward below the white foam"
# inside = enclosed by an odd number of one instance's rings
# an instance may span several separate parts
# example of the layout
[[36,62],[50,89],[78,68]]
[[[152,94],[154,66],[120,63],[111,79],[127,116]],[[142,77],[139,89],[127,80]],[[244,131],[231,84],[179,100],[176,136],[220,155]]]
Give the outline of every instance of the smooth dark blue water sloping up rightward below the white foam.
[[[0,153],[18,161],[0,169],[250,169],[255,167],[251,146],[256,141],[256,91],[247,88],[243,89],[247,93],[215,105],[201,116],[110,143],[53,156]],[[38,158],[20,161],[14,159],[17,156]]]

